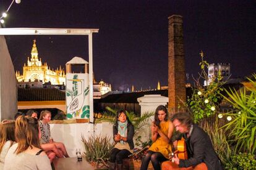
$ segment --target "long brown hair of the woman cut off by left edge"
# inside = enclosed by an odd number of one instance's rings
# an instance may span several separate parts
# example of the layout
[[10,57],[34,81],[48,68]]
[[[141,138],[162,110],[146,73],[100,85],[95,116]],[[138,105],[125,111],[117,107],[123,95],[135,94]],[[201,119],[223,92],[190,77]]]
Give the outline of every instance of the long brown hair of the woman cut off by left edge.
[[11,141],[11,145],[15,141],[15,121],[14,120],[4,120],[0,124],[0,153],[2,152],[2,147],[8,140]]

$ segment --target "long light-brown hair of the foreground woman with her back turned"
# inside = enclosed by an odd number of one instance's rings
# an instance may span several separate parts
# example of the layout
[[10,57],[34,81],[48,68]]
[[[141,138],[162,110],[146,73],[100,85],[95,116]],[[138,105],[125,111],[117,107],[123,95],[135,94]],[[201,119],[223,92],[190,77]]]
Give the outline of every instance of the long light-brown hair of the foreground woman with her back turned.
[[15,153],[24,152],[28,147],[40,148],[38,134],[38,121],[36,118],[19,116],[15,122],[15,139],[18,142]]

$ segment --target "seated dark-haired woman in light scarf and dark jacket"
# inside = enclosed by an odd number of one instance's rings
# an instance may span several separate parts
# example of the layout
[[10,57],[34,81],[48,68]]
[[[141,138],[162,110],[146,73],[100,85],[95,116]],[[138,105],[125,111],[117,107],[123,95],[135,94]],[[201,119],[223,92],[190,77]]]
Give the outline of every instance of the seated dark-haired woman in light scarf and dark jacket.
[[116,145],[111,150],[109,169],[121,170],[122,160],[128,158],[133,153],[134,148],[134,126],[130,122],[124,110],[120,110],[116,115],[116,123],[113,126],[113,136]]

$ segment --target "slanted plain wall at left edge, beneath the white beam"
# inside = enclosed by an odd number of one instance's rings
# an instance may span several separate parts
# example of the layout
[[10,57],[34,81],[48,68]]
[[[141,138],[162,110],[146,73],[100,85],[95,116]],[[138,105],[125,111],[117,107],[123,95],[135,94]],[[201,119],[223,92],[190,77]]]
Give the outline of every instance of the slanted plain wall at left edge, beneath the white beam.
[[14,119],[17,112],[17,80],[4,36],[0,36],[0,56],[0,120]]

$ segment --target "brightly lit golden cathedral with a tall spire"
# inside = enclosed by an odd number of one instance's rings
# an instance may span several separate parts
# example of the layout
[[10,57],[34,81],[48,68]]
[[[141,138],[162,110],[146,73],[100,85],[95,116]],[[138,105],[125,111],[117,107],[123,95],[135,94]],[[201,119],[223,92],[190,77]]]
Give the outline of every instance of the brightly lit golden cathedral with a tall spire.
[[23,75],[16,71],[18,82],[42,81],[43,83],[51,82],[51,84],[66,84],[65,71],[61,66],[55,71],[48,67],[47,63],[38,59],[38,51],[36,48],[36,40],[33,40],[31,58],[28,57],[27,65],[24,63]]

